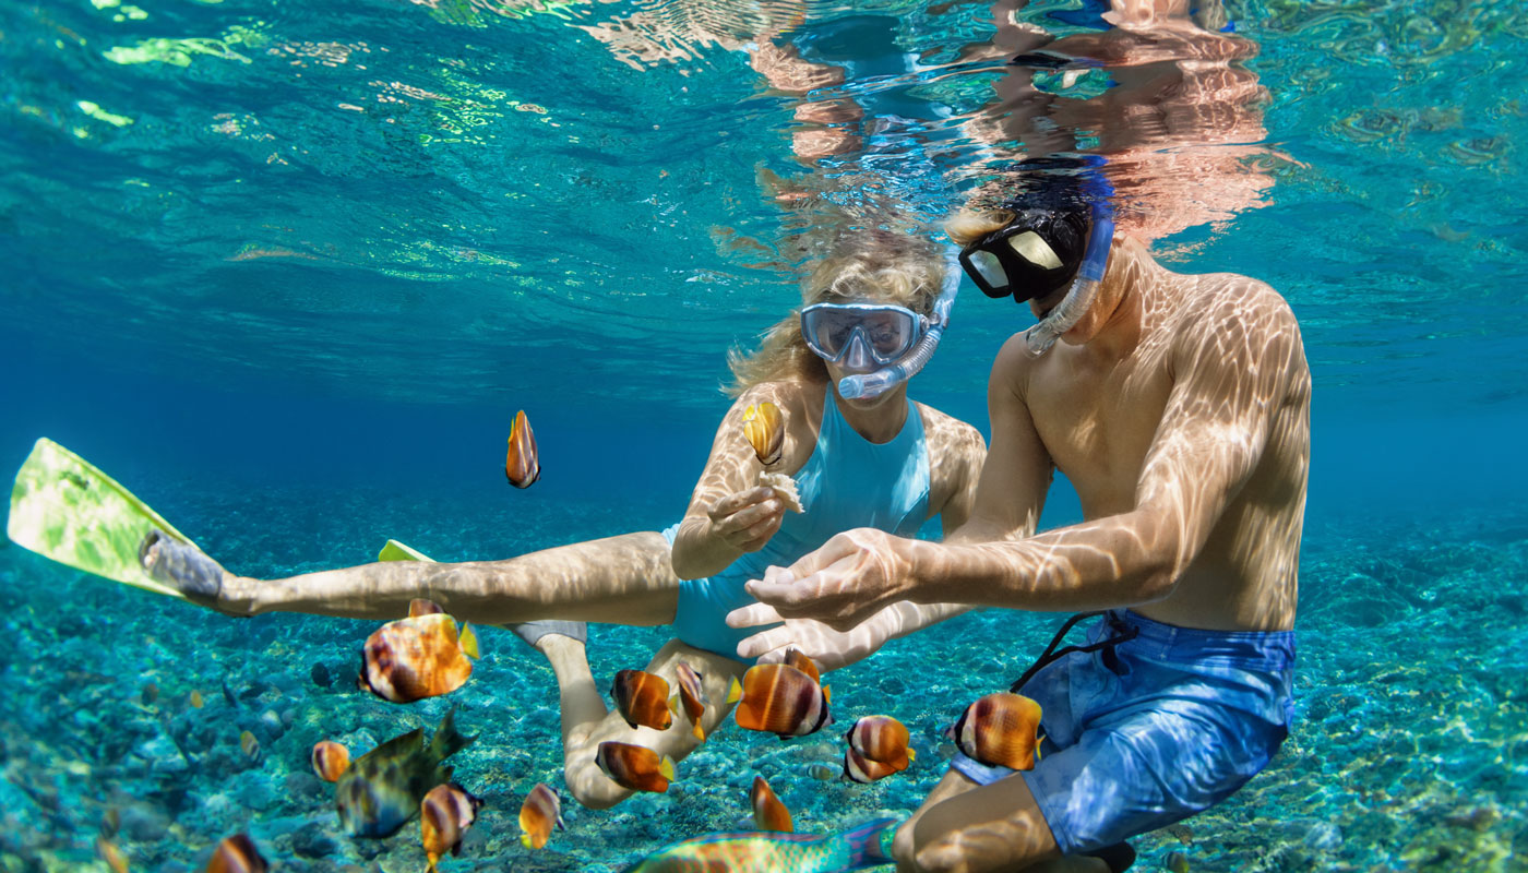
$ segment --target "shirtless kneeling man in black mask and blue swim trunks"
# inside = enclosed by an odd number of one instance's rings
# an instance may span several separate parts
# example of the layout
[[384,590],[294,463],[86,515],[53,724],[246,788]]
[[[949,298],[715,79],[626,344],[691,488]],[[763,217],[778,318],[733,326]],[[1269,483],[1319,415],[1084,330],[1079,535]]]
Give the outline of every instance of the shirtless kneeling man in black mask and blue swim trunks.
[[[957,757],[897,835],[903,870],[1123,870],[1125,838],[1224,800],[1288,728],[1309,460],[1299,326],[1267,284],[1169,272],[1114,237],[1096,197],[1042,179],[1007,213],[950,225],[973,281],[1041,316],[993,364],[970,520],[943,544],[840,534],[750,583],[761,604],[729,616],[842,630],[895,601],[1109,610],[1093,651],[1022,686],[1044,709],[1041,761],[1015,777]],[[1034,534],[1057,468],[1085,521]]]

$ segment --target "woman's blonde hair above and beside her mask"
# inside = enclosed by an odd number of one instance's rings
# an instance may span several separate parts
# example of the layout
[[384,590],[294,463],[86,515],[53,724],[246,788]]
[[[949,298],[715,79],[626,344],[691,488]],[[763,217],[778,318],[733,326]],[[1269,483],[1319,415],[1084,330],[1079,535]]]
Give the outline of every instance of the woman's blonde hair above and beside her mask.
[[[802,309],[813,303],[874,300],[929,315],[944,283],[944,258],[927,234],[871,229],[845,235],[817,261],[801,287]],[[764,332],[752,352],[727,352],[736,398],[761,382],[827,382],[828,368],[801,335],[801,309]]]

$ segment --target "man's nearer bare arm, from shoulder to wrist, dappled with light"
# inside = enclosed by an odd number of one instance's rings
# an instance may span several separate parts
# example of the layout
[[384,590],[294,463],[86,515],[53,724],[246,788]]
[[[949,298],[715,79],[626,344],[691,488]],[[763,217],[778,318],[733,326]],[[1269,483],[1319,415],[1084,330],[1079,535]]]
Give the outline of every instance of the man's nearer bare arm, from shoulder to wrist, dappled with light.
[[1303,372],[1299,326],[1271,292],[1225,295],[1189,321],[1131,512],[1012,543],[914,544],[905,596],[1042,610],[1167,596],[1256,469],[1291,378]]

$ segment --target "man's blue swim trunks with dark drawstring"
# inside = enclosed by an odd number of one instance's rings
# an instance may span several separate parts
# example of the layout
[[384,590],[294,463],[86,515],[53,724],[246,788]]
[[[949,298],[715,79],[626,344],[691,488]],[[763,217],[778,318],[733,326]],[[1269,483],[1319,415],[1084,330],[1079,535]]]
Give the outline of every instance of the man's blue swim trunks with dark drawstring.
[[[1039,761],[1019,772],[1063,855],[1157,830],[1268,766],[1294,714],[1294,631],[1174,627],[1111,610],[1088,642],[1019,690],[1041,705]],[[957,754],[979,784],[1015,774]]]

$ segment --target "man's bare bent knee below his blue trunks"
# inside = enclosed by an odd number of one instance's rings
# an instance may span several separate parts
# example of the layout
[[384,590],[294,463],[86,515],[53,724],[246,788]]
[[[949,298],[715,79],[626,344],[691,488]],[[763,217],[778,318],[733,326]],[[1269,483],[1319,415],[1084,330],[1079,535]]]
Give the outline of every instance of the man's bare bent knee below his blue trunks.
[[1062,856],[1022,778],[983,786],[944,774],[918,812],[897,830],[897,870],[1108,873],[1097,858]]

